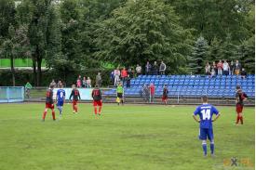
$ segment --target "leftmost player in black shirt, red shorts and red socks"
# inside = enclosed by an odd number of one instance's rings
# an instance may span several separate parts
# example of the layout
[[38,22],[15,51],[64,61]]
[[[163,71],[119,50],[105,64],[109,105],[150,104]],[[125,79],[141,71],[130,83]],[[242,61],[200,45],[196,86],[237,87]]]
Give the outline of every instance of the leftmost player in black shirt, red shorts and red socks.
[[55,111],[54,111],[54,104],[53,104],[53,88],[54,88],[54,85],[50,85],[49,88],[47,89],[46,109],[43,113],[43,119],[42,119],[43,122],[45,122],[48,109],[51,110],[52,119],[53,121],[55,121]]

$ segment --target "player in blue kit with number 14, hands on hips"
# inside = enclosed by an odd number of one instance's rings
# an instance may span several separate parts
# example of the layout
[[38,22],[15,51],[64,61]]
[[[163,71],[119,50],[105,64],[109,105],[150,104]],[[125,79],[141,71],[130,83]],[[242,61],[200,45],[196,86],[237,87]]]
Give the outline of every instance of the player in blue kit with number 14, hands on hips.
[[[208,97],[202,97],[203,104],[198,106],[194,111],[193,117],[197,123],[200,123],[199,139],[202,140],[202,147],[204,150],[204,156],[207,156],[207,138],[210,141],[210,153],[214,156],[214,141],[213,141],[213,128],[212,122],[216,121],[220,117],[220,112],[212,105],[208,104]],[[212,116],[215,114],[215,118],[212,120]],[[196,118],[199,115],[199,120]]]

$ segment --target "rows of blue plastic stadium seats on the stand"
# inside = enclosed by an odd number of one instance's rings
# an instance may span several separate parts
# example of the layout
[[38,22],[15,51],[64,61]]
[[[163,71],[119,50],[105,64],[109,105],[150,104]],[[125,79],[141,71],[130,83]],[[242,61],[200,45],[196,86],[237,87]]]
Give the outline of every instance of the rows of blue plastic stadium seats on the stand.
[[[250,98],[255,98],[255,75],[249,74],[242,79],[236,75],[140,75],[130,81],[131,87],[125,88],[126,97],[140,96],[141,86],[155,85],[155,97],[162,96],[163,85],[168,85],[168,96],[200,97],[207,95],[216,98],[234,98],[236,85],[241,85]],[[115,88],[104,93],[105,96],[115,96]]]

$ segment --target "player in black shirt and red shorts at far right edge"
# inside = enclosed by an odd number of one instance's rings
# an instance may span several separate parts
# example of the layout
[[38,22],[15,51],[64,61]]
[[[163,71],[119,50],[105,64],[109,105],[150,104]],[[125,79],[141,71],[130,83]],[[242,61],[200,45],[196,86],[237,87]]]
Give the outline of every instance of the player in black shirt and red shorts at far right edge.
[[244,124],[243,121],[243,108],[244,108],[244,101],[247,100],[248,96],[244,93],[241,89],[240,85],[236,86],[236,124]]

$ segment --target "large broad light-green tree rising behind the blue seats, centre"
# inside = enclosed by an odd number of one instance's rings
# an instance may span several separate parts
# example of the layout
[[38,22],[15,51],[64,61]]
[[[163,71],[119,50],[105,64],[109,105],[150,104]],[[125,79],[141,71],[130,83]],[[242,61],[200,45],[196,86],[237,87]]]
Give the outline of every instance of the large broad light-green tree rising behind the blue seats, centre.
[[128,1],[95,34],[98,59],[116,65],[163,59],[170,72],[179,72],[190,46],[190,33],[179,25],[172,7],[156,0]]

